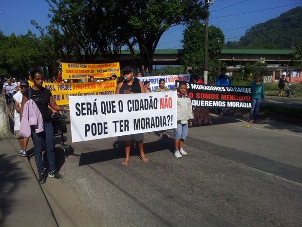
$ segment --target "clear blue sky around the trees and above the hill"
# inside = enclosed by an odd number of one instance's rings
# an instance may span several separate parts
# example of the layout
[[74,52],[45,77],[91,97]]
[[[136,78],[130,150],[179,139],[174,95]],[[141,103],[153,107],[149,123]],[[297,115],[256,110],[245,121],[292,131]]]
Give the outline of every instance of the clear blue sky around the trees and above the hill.
[[[251,26],[274,19],[297,6],[302,6],[302,0],[215,0],[209,7],[209,25],[222,29],[225,42],[238,41]],[[45,28],[50,20],[45,0],[0,0],[0,12],[0,30],[4,35],[24,35],[27,30],[39,35],[30,21],[35,20]],[[162,36],[157,49],[181,49],[185,27],[171,27]]]

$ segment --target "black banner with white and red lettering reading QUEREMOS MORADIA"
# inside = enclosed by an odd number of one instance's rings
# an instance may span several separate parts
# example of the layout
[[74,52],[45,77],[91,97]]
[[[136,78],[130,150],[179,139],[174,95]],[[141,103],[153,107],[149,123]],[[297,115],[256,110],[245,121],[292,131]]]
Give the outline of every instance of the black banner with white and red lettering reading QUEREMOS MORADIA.
[[[177,85],[179,81],[175,82]],[[252,108],[250,86],[214,86],[187,82],[193,107]]]

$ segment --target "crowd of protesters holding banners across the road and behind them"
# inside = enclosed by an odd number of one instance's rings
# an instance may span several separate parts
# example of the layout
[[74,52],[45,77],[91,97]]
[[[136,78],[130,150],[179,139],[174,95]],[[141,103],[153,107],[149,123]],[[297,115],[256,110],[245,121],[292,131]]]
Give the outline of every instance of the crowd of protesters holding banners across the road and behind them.
[[[131,66],[124,67],[122,71],[123,75],[118,77],[117,75],[111,75],[109,78],[97,78],[94,76],[86,79],[86,83],[94,82],[103,82],[108,80],[116,80],[117,86],[115,94],[130,94],[130,93],[148,93],[151,92],[150,84],[151,82],[146,80],[144,83],[141,83],[137,77],[148,77],[150,72],[148,68],[145,68],[144,65],[141,67],[141,71],[133,75],[133,69]],[[226,75],[227,69],[222,68],[221,74],[216,78],[216,85],[231,85],[231,80],[229,76]],[[154,76],[161,76],[160,73]],[[32,87],[29,87],[27,81],[17,82],[16,78],[8,78],[4,83],[0,81],[0,88],[2,94],[9,97],[14,95],[15,100],[15,136],[19,140],[20,150],[18,155],[27,157],[27,144],[28,138],[32,137],[34,142],[35,150],[35,160],[38,167],[39,174],[39,183],[43,184],[46,182],[47,173],[43,166],[43,157],[42,152],[45,150],[46,157],[48,159],[48,177],[53,177],[56,179],[62,179],[63,176],[57,172],[55,164],[55,155],[54,155],[54,131],[53,125],[50,121],[50,111],[56,112],[58,110],[66,112],[69,110],[68,107],[62,107],[57,105],[55,100],[52,97],[51,92],[42,86],[43,83],[83,83],[81,80],[63,80],[62,71],[60,70],[57,78],[45,79],[43,80],[42,73],[38,70],[33,71],[29,80]],[[251,83],[252,87],[256,87],[257,94],[253,93],[253,108],[250,112],[250,123],[258,123],[258,111],[260,106],[260,101],[264,101],[264,92],[263,85],[260,81],[260,76],[255,76],[255,82]],[[199,75],[191,75],[190,82],[192,83],[201,83],[203,80],[200,79]],[[175,151],[173,155],[175,158],[182,158],[182,156],[187,155],[188,153],[183,149],[184,141],[188,134],[188,127],[193,123],[197,125],[202,124],[213,124],[210,121],[209,110],[208,108],[192,108],[191,101],[187,95],[187,86],[186,83],[179,83],[179,86],[175,88],[177,90],[177,128],[174,129],[174,142],[175,142]],[[255,90],[255,89],[254,89]],[[165,87],[165,80],[159,80],[159,87],[154,90],[154,92],[167,92],[169,89]],[[7,102],[7,101],[6,101]],[[223,113],[226,117],[226,109],[215,109],[218,115]],[[252,117],[254,116],[254,122]],[[35,125],[28,123],[30,119],[34,117],[36,120]],[[23,119],[23,121],[22,121]],[[24,126],[25,125],[25,126]],[[169,138],[170,135],[166,133],[166,130],[158,132],[160,138]],[[144,153],[144,134],[134,134],[119,136],[118,141],[123,141],[125,143],[125,160],[122,162],[122,165],[127,166],[130,162],[130,149],[131,145],[135,143],[139,149],[139,158],[143,162],[148,162],[148,158]]]

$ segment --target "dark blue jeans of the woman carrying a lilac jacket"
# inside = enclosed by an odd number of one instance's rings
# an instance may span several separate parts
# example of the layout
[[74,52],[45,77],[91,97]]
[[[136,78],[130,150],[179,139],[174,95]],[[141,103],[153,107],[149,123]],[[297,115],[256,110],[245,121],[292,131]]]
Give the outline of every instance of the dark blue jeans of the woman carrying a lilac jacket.
[[48,160],[49,171],[56,171],[55,150],[54,150],[54,128],[50,121],[43,122],[44,131],[36,133],[32,130],[32,138],[35,150],[35,160],[38,168],[38,174],[44,173],[44,165],[42,160],[43,142],[45,141],[46,154]]

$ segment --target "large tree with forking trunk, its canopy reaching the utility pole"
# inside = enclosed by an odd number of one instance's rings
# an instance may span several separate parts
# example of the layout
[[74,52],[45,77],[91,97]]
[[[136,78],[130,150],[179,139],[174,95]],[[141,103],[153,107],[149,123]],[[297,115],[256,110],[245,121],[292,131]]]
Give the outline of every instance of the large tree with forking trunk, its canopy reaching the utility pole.
[[[119,0],[114,4],[134,59],[152,69],[153,54],[170,27],[204,19],[200,0]],[[139,52],[136,52],[135,45]]]

